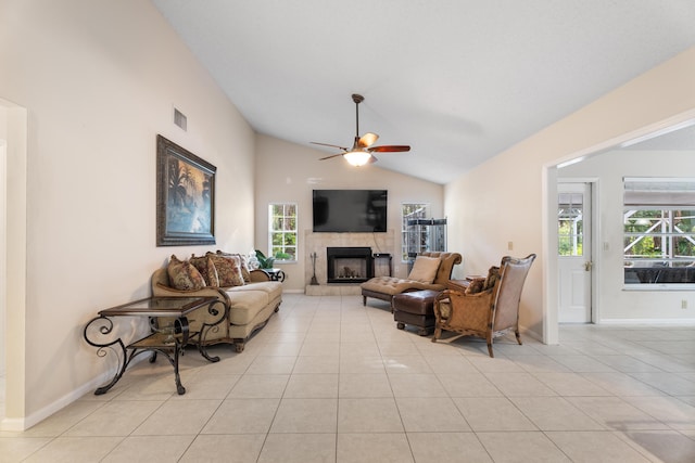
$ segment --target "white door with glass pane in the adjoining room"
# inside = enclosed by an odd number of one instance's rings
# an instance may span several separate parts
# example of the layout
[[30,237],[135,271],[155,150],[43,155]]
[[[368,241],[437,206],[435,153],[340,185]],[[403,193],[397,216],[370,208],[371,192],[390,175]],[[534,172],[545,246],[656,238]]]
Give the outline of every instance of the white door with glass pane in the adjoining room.
[[560,323],[590,323],[591,319],[591,184],[557,185],[557,259]]

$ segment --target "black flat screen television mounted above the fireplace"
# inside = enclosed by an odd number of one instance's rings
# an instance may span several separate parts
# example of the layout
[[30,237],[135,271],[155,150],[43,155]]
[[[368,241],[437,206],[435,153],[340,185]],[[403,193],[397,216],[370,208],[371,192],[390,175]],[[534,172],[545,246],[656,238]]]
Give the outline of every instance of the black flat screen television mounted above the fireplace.
[[387,190],[314,190],[314,232],[386,233]]

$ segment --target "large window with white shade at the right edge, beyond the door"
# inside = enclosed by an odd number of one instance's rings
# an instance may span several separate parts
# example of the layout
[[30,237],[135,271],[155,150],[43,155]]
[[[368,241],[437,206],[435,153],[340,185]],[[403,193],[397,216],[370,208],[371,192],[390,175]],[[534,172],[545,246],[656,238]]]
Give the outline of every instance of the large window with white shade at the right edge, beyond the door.
[[626,285],[694,284],[695,179],[626,178],[623,193]]

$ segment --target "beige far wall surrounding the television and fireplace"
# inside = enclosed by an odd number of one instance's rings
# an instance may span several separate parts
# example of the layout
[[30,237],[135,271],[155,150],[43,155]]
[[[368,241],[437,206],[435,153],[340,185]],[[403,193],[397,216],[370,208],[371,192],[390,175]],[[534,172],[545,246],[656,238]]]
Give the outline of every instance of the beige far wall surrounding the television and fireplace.
[[[384,154],[407,156],[408,154]],[[308,252],[304,234],[312,230],[312,190],[320,189],[386,189],[389,191],[388,229],[401,230],[402,203],[429,203],[433,217],[442,217],[444,188],[438,183],[419,180],[380,169],[379,164],[351,167],[342,158],[318,160],[326,152],[312,150],[267,136],[256,140],[256,247],[267,252],[269,203],[296,203],[300,216],[299,258],[296,263],[279,265],[287,273],[286,291],[304,291]],[[381,242],[381,240],[378,240]],[[365,244],[367,245],[367,244]],[[394,273],[405,275],[407,266],[401,263],[400,239],[394,249],[380,249],[394,256]],[[376,247],[372,247],[375,252]],[[318,265],[318,263],[317,263]],[[307,273],[307,274],[311,274]]]

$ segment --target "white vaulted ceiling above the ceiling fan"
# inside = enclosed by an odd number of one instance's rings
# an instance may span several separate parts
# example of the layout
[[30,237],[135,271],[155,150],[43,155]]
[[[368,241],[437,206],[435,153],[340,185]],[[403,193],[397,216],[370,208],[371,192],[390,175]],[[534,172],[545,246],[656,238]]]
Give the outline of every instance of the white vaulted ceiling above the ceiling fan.
[[438,183],[695,44],[693,0],[153,3],[257,132],[318,163],[361,93],[361,134],[412,146],[379,167]]

